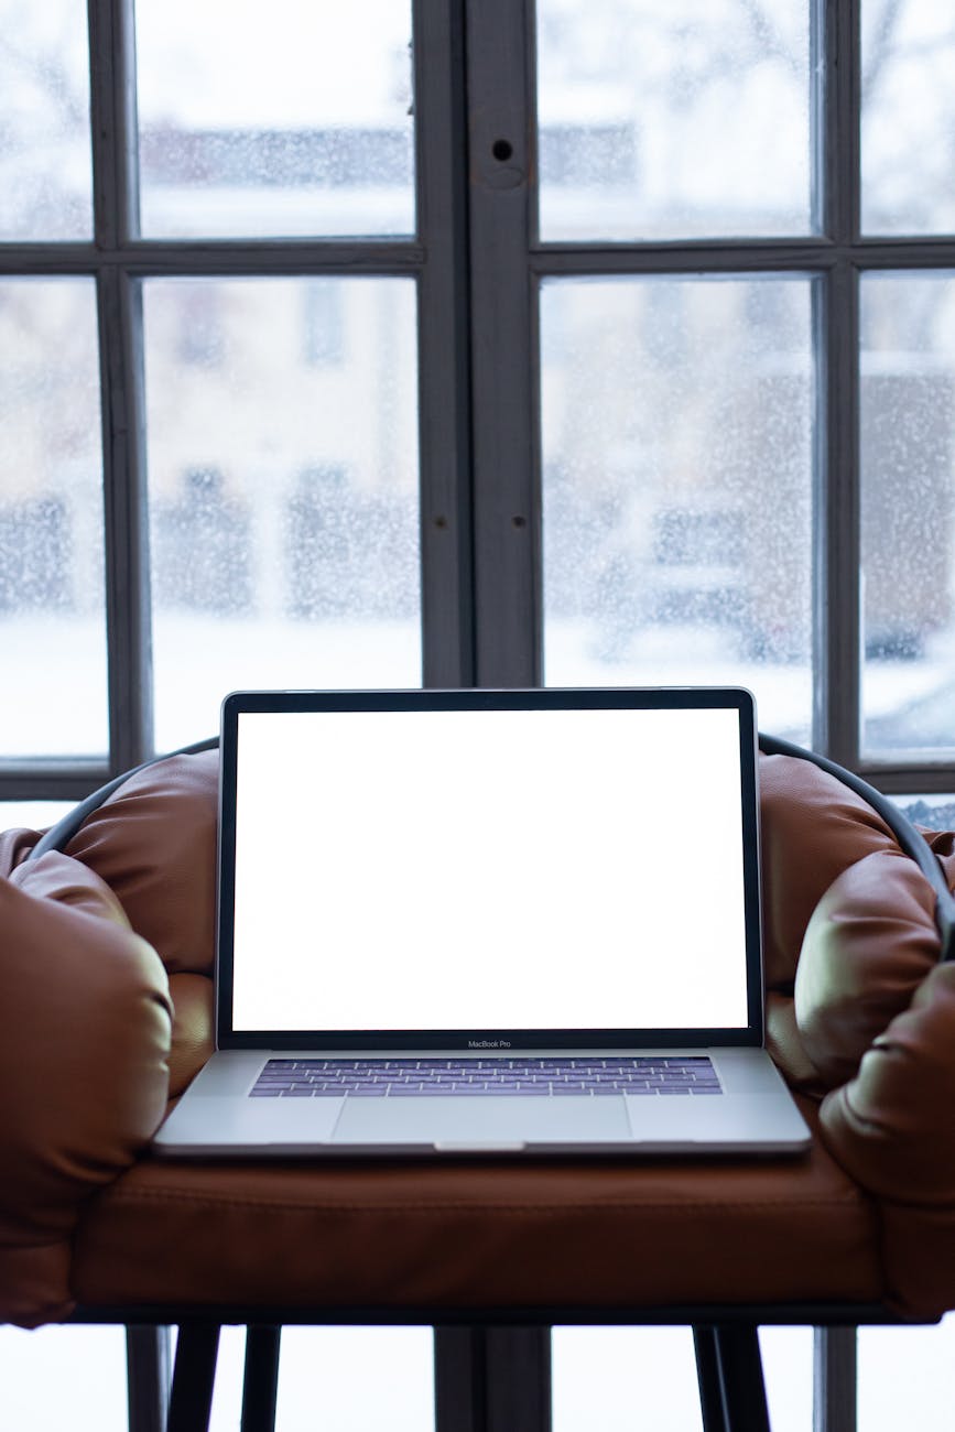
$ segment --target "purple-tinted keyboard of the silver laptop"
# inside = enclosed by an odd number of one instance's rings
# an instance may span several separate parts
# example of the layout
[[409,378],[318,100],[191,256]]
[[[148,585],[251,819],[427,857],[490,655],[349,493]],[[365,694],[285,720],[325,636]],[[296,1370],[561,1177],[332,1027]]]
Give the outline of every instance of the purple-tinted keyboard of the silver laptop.
[[706,1055],[660,1058],[269,1060],[252,1098],[468,1094],[722,1094]]

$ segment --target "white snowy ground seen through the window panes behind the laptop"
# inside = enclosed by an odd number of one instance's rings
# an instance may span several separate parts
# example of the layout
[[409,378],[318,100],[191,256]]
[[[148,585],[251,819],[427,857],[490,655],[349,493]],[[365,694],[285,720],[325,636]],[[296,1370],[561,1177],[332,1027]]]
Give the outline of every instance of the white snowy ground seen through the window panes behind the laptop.
[[[417,686],[414,623],[263,621],[160,614],[153,633],[156,746],[169,749],[218,729],[219,702],[242,686]],[[106,653],[93,620],[0,621],[0,753],[96,755],[106,746]],[[755,693],[763,730],[805,740],[812,713],[808,664],[743,660],[723,632],[654,627],[607,656],[587,621],[553,621],[548,684],[720,684]],[[934,733],[955,746],[955,636],[939,636],[922,660],[869,662],[866,719],[879,745],[898,749],[931,713]],[[893,737],[893,727],[898,736]]]

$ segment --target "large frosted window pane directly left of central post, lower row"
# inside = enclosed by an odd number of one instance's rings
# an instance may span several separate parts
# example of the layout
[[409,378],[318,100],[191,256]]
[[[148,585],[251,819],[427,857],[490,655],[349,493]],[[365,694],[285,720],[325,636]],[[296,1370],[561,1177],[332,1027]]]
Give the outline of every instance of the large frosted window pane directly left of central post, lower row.
[[145,285],[156,740],[421,680],[415,285]]

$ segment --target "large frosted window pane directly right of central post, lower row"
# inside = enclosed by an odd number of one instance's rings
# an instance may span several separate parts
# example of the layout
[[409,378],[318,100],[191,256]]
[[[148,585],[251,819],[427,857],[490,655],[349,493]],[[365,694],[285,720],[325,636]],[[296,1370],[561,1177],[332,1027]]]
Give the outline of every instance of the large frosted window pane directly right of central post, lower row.
[[544,607],[556,684],[750,686],[809,735],[810,281],[541,292]]

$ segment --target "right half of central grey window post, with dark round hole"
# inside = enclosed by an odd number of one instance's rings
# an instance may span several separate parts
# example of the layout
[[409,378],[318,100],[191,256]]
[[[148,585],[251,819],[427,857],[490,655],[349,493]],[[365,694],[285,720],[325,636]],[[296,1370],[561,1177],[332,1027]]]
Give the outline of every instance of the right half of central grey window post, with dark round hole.
[[528,27],[524,6],[513,0],[468,6],[475,649],[481,686],[528,686],[541,679]]

